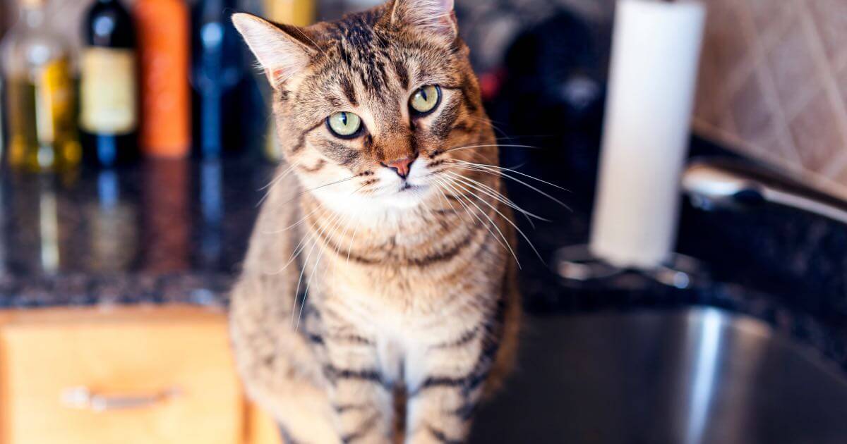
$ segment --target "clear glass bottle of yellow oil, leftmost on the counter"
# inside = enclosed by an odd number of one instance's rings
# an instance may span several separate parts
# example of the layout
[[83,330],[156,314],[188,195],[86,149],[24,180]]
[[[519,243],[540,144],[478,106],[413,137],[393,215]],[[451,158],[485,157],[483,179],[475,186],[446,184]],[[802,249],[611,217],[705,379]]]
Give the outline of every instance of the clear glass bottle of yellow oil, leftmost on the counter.
[[18,23],[0,46],[8,165],[36,173],[67,171],[81,156],[69,52],[46,24],[44,0],[21,0],[19,7]]

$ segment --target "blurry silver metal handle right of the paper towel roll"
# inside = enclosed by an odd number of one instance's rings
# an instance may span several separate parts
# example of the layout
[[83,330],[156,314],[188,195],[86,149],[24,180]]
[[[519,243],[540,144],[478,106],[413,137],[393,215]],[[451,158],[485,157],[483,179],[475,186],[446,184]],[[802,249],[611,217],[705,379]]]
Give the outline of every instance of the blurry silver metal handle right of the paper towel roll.
[[738,162],[694,162],[683,173],[683,189],[703,209],[771,202],[847,224],[844,199],[794,178]]

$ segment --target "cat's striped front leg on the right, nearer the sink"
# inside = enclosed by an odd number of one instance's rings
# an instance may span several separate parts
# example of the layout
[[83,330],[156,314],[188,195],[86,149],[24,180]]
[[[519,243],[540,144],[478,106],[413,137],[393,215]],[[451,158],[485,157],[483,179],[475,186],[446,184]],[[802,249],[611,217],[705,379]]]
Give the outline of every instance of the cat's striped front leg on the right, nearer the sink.
[[497,352],[487,330],[469,327],[408,355],[407,444],[465,441]]

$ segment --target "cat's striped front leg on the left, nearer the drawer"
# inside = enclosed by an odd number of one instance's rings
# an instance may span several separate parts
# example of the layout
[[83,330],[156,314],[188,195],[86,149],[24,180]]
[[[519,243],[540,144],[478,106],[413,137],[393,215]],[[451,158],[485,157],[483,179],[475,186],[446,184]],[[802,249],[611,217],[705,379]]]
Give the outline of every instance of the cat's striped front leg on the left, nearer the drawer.
[[392,391],[379,371],[374,340],[352,329],[324,335],[324,374],[342,442],[386,443],[393,425]]

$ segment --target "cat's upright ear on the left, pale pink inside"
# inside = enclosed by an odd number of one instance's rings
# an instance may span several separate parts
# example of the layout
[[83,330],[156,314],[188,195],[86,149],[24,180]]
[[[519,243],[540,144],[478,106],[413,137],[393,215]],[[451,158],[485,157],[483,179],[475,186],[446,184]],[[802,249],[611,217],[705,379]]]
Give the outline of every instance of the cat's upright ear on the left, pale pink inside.
[[274,88],[306,69],[317,51],[305,30],[274,25],[252,14],[232,14],[232,24],[244,37]]

